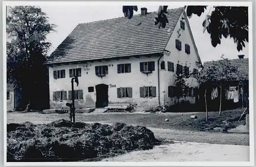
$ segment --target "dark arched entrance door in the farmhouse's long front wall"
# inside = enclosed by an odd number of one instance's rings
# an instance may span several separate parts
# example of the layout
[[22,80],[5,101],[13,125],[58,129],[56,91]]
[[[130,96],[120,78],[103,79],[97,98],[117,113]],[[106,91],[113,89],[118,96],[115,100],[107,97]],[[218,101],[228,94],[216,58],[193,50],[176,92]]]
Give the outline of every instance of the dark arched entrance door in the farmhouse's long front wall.
[[96,108],[108,106],[109,86],[105,84],[99,84],[95,88],[96,88]]

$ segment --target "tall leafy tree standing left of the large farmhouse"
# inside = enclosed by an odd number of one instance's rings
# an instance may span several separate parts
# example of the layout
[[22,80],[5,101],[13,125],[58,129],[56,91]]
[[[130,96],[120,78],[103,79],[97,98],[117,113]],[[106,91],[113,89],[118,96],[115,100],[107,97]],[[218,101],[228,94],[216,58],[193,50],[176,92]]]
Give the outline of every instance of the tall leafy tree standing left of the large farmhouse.
[[36,105],[45,95],[47,70],[42,64],[51,46],[46,38],[55,25],[36,6],[9,7],[6,21],[7,81],[22,90],[27,103]]

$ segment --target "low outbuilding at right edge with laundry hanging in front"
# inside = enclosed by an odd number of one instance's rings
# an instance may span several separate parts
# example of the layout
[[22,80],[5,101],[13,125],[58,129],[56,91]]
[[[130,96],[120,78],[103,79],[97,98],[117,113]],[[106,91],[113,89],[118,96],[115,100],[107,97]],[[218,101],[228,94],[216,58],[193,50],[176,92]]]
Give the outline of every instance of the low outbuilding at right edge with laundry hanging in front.
[[[231,109],[236,107],[248,107],[249,97],[249,59],[244,59],[244,55],[238,55],[239,59],[228,60],[231,66],[238,68],[238,73],[230,73],[230,81],[225,82],[225,87],[222,89],[223,109]],[[222,70],[221,61],[204,62],[204,70],[207,68],[216,68]],[[238,75],[239,74],[239,75]],[[209,108],[218,109],[220,103],[221,90],[220,87],[207,87],[207,105]],[[204,91],[200,94],[200,101],[204,103]]]

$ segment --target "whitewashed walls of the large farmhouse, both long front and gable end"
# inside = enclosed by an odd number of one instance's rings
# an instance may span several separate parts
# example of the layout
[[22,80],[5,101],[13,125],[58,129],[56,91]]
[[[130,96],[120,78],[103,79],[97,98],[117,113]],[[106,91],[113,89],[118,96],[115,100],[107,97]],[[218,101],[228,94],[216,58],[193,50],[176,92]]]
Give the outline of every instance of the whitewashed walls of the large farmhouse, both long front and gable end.
[[[109,103],[115,102],[129,102],[137,105],[136,110],[146,110],[151,107],[158,106],[159,100],[158,95],[160,95],[160,105],[174,105],[177,98],[168,97],[168,86],[175,86],[175,73],[177,63],[180,65],[189,66],[189,70],[192,71],[194,68],[198,68],[196,62],[200,62],[196,52],[195,45],[193,43],[192,36],[189,32],[188,21],[183,19],[185,22],[185,30],[180,30],[181,36],[178,37],[178,30],[180,29],[180,16],[175,29],[168,41],[165,50],[170,51],[170,54],[165,54],[160,59],[165,62],[165,70],[159,71],[160,76],[160,94],[158,91],[158,59],[159,57],[140,57],[140,58],[130,58],[130,59],[120,59],[111,61],[101,61],[101,62],[88,62],[86,64],[76,64],[76,65],[61,65],[49,67],[49,82],[50,82],[50,107],[51,108],[61,108],[66,107],[67,102],[70,100],[53,101],[54,91],[71,91],[71,78],[69,77],[69,69],[81,68],[81,77],[79,77],[78,87],[74,87],[75,90],[83,90],[83,100],[75,100],[76,108],[84,107],[95,107],[96,102],[96,89],[95,86],[99,84],[105,84],[109,86],[108,95]],[[183,18],[186,16],[183,16]],[[176,49],[175,40],[179,39],[182,42],[182,50]],[[190,46],[190,54],[185,52],[185,44]],[[143,49],[143,48],[141,48]],[[140,72],[140,62],[155,62],[155,71],[148,75]],[[167,62],[174,63],[174,72],[167,70]],[[131,63],[131,73],[117,73],[117,64]],[[95,75],[95,66],[108,65],[108,75],[98,77]],[[53,78],[54,70],[66,70],[65,78]],[[189,78],[187,80],[189,87],[198,87],[195,79]],[[111,87],[110,85],[115,85],[116,87]],[[154,86],[156,87],[156,97],[154,98],[141,98],[140,97],[140,87],[143,86]],[[88,92],[88,87],[94,87],[94,92]],[[133,97],[132,98],[117,98],[117,88],[120,87],[132,87]],[[195,103],[195,97],[184,97],[179,100],[189,101],[190,103]]]

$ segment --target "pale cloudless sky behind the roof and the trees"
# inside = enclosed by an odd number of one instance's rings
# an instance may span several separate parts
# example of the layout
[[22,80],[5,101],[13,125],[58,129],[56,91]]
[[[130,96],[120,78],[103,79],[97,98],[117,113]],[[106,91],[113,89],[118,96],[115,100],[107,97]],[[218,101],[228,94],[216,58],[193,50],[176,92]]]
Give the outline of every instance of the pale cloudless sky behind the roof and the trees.
[[[123,17],[122,6],[40,6],[41,9],[49,17],[49,22],[57,25],[56,32],[48,35],[48,40],[52,43],[52,47],[49,53],[54,51],[56,47],[72,32],[72,30],[79,23],[92,22],[97,20],[105,20],[116,17]],[[138,6],[138,12],[134,14],[140,14],[140,8],[146,7],[148,12],[154,12],[158,9],[158,6]],[[168,9],[179,8],[181,6],[169,5]],[[189,19],[191,31],[193,33],[196,46],[199,51],[199,55],[202,62],[219,60],[221,55],[224,54],[225,58],[238,59],[239,54],[245,54],[245,58],[248,58],[248,43],[243,51],[238,52],[237,45],[234,44],[233,39],[229,37],[227,39],[222,38],[221,45],[213,47],[210,41],[210,35],[203,33],[202,22],[207,14],[210,14],[212,7],[208,7],[207,10],[198,17],[193,15]],[[97,27],[95,27],[96,29]]]

